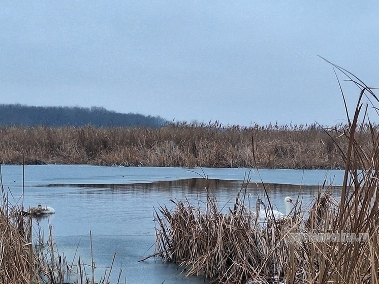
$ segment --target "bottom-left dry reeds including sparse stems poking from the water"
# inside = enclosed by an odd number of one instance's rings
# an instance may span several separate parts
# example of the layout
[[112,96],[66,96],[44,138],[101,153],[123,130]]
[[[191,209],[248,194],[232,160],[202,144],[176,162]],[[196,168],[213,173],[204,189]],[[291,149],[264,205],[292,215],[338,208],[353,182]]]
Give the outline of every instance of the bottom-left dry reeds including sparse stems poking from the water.
[[[96,263],[68,262],[57,253],[52,227],[44,240],[40,227],[30,215],[24,216],[22,206],[11,205],[1,179],[0,187],[0,283],[2,284],[108,284],[113,262],[100,280],[94,279]],[[36,227],[37,226],[37,227]],[[119,279],[121,271],[119,274]],[[117,282],[119,283],[119,281]]]

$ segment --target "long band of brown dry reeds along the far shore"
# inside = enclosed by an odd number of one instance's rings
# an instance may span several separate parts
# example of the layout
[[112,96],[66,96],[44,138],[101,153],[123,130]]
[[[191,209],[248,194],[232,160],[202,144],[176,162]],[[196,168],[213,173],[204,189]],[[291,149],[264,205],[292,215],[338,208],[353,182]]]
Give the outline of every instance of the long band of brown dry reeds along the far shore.
[[[341,169],[349,125],[224,127],[171,124],[150,128],[0,127],[2,164]],[[357,146],[370,151],[368,125]]]

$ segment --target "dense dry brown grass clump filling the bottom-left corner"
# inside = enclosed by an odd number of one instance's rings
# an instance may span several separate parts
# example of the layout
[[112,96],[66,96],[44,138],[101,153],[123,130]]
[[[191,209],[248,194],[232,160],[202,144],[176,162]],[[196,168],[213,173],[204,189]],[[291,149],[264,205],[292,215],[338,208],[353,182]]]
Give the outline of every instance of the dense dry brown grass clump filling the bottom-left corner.
[[66,283],[71,273],[66,259],[55,254],[51,238],[45,243],[38,229],[33,233],[32,218],[9,204],[1,178],[0,185],[0,283]]

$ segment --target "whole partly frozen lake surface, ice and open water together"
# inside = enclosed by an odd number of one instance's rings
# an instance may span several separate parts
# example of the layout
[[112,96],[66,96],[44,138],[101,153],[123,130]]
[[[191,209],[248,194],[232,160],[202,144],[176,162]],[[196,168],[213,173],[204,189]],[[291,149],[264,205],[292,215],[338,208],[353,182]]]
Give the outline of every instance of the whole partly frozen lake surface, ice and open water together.
[[[175,265],[162,264],[160,259],[138,260],[153,254],[155,240],[154,207],[184,198],[205,201],[209,190],[219,204],[233,202],[242,181],[250,179],[248,194],[264,198],[261,182],[277,209],[285,211],[283,199],[299,196],[306,204],[317,194],[318,186],[340,185],[341,170],[250,170],[250,169],[183,169],[155,167],[99,167],[87,165],[39,165],[1,167],[3,185],[12,193],[12,204],[21,205],[24,185],[24,207],[53,207],[55,214],[40,221],[48,231],[53,226],[54,241],[59,253],[69,263],[75,250],[84,263],[90,264],[89,232],[100,278],[116,253],[111,283],[204,283],[204,279],[183,278]],[[228,204],[226,208],[228,207]],[[76,260],[77,262],[77,260]]]

